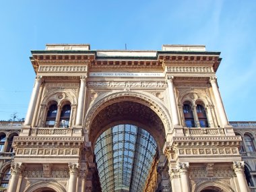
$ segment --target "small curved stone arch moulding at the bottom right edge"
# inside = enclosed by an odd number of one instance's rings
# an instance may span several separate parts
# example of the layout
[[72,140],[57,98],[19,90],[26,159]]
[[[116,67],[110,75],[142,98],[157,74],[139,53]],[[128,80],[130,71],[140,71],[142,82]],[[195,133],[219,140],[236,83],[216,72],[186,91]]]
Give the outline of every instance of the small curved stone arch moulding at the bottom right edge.
[[232,187],[223,181],[202,181],[193,187],[192,192],[201,192],[203,189],[215,189],[215,191],[234,192]]

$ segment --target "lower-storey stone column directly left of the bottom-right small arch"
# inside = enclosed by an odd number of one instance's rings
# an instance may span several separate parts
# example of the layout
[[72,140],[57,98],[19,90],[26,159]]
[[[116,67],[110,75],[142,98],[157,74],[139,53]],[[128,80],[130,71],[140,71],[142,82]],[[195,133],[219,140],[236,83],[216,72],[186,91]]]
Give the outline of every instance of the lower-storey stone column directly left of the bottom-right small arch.
[[183,192],[190,192],[189,175],[188,175],[189,163],[180,162],[177,165],[177,167],[179,168],[179,172],[181,175],[181,186],[182,186]]

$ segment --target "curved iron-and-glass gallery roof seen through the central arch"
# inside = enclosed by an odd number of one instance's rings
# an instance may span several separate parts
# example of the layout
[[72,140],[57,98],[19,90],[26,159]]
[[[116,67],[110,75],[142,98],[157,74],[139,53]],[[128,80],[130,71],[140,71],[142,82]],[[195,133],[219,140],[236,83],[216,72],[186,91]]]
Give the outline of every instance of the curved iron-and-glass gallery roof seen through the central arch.
[[94,148],[102,191],[143,191],[156,149],[150,133],[135,125],[104,131]]

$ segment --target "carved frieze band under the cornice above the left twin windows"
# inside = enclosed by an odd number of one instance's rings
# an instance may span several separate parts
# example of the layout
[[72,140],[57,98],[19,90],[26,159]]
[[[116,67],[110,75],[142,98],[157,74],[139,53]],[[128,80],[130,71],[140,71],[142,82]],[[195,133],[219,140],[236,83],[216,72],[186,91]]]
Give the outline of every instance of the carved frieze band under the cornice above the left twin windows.
[[38,73],[77,73],[77,72],[86,72],[87,66],[49,66],[49,65],[41,65],[38,68]]

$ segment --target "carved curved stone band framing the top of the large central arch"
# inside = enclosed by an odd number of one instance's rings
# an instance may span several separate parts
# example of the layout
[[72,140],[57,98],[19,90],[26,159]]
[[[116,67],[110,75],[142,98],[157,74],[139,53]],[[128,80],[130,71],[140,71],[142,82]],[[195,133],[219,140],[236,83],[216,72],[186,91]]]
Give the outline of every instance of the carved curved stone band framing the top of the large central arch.
[[90,124],[94,120],[94,117],[100,113],[100,111],[109,106],[110,104],[114,104],[116,102],[121,101],[131,101],[137,102],[139,104],[143,104],[151,108],[158,117],[162,120],[164,124],[164,129],[170,131],[171,121],[170,115],[168,113],[167,108],[162,103],[162,100],[157,98],[152,94],[148,94],[146,92],[112,92],[109,94],[102,94],[97,100],[95,100],[94,104],[88,108],[86,113],[86,118],[83,123],[84,129],[90,131]]

